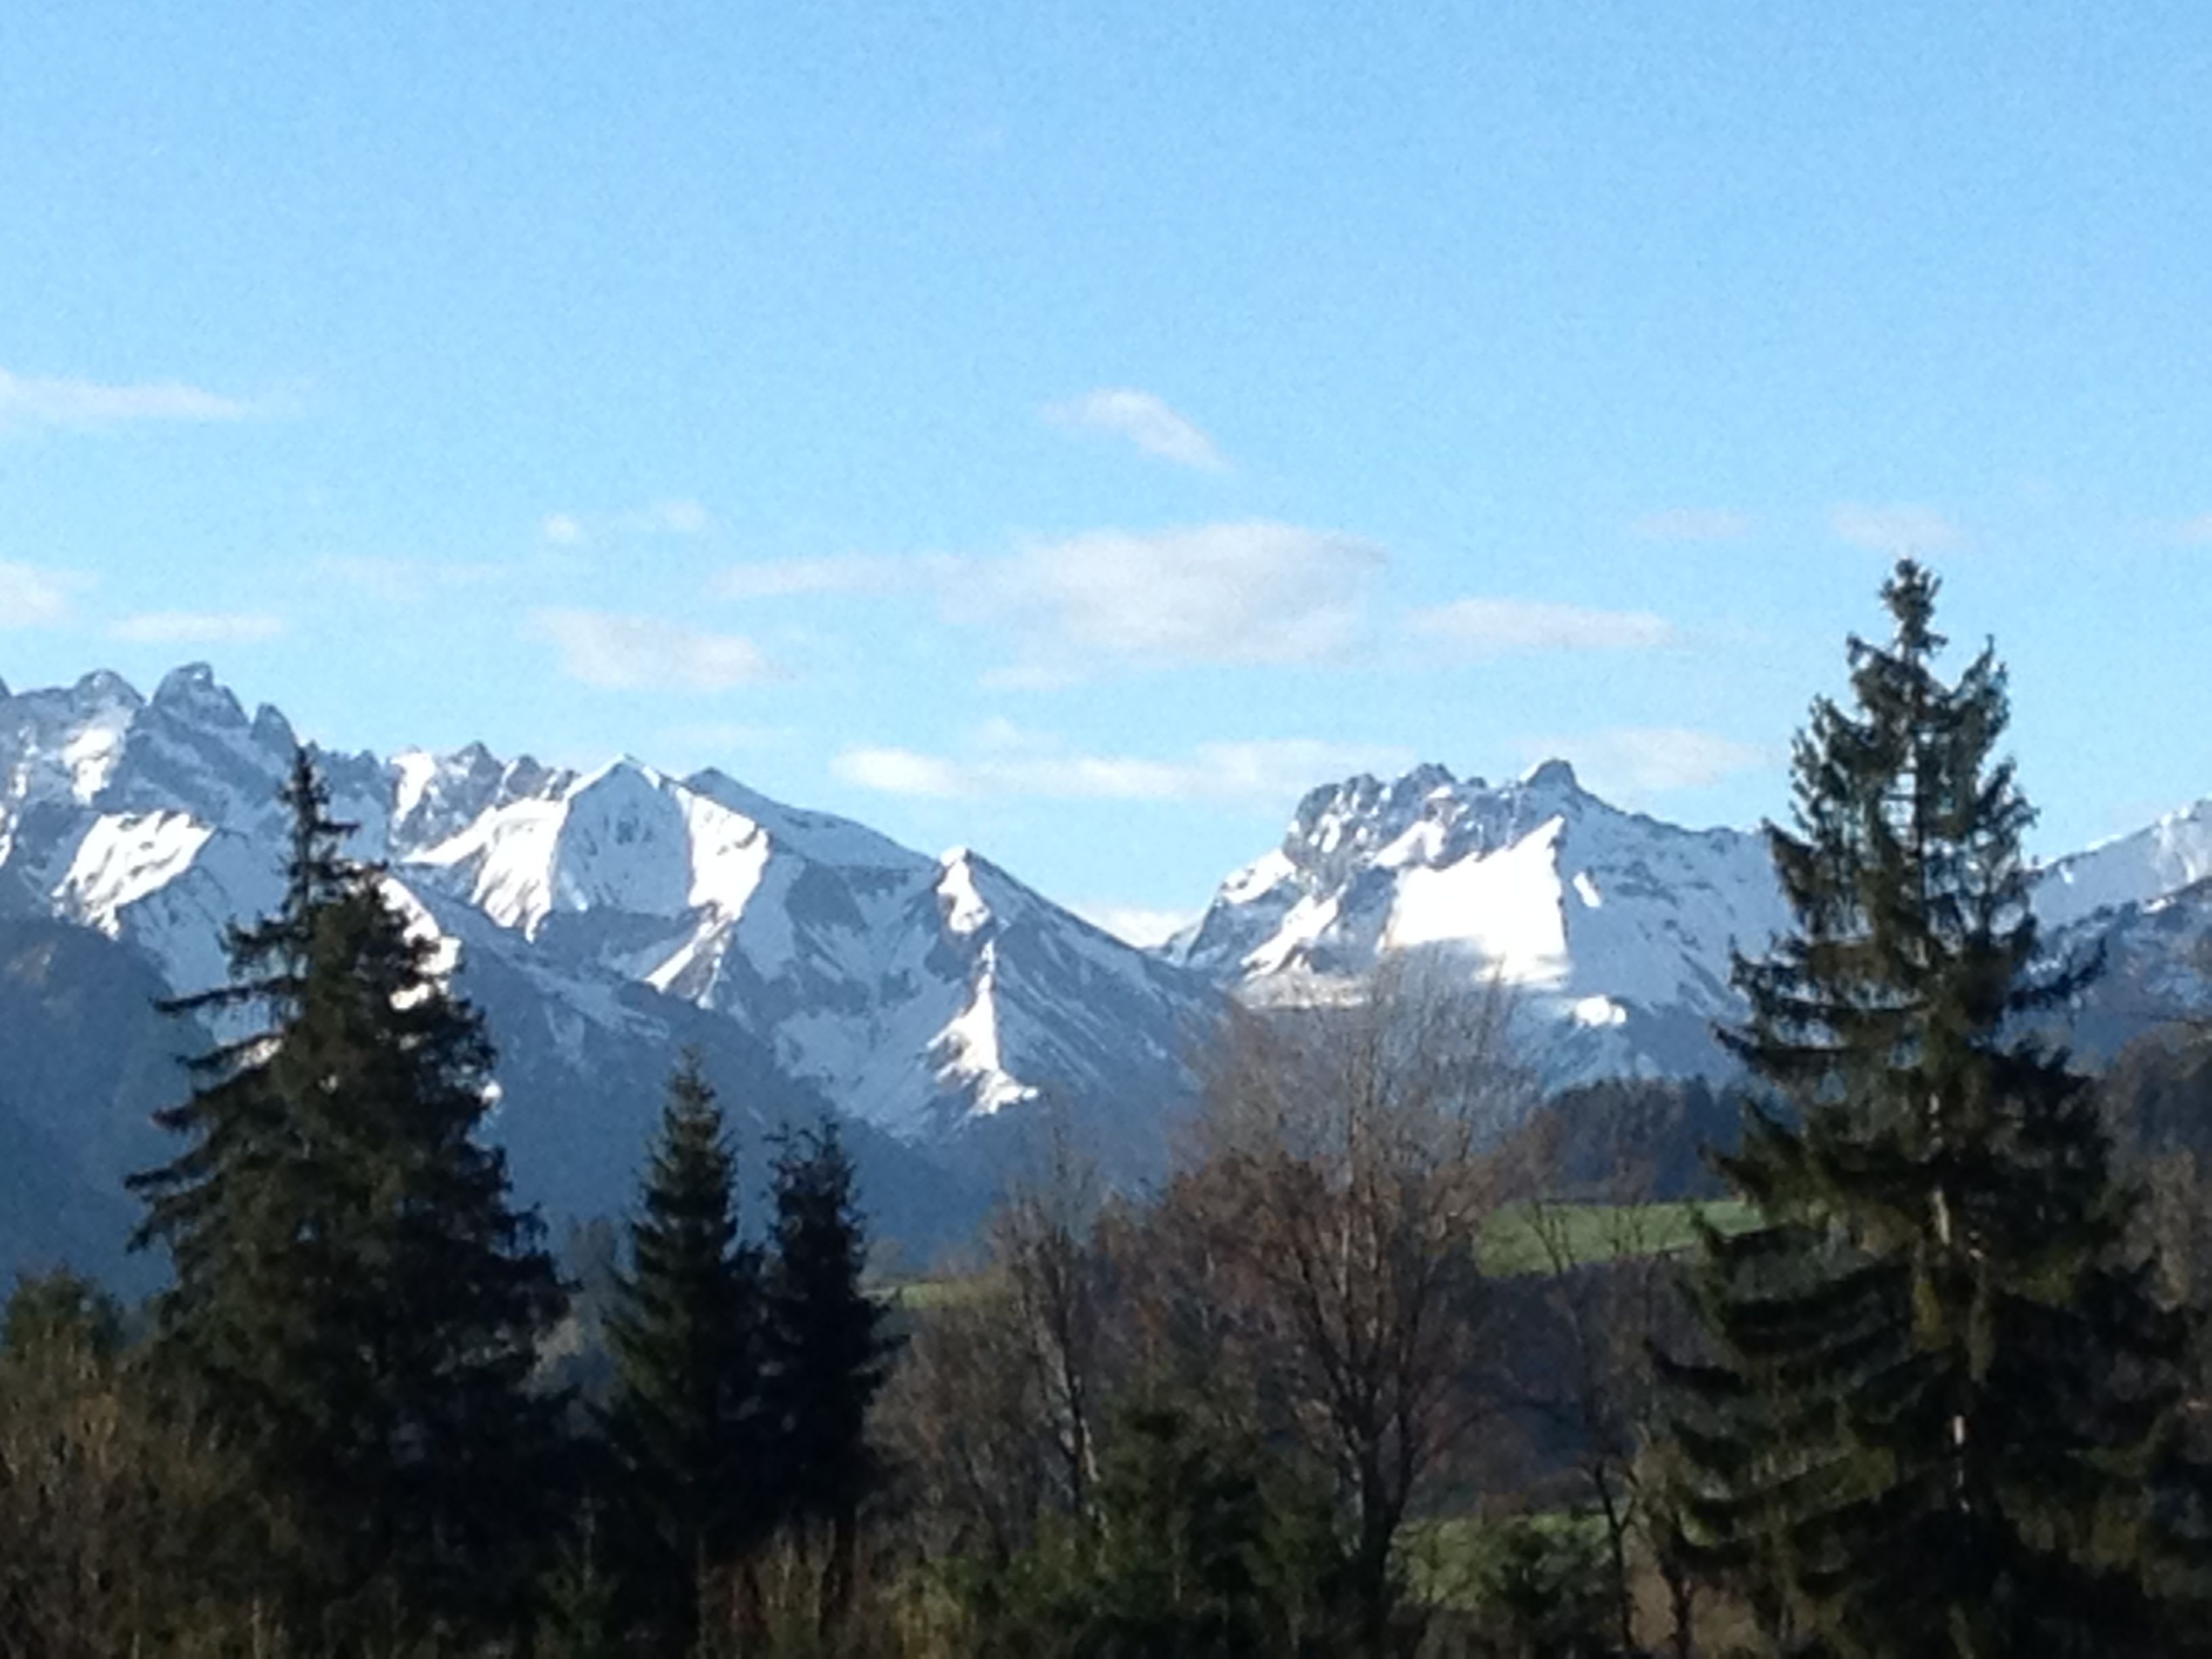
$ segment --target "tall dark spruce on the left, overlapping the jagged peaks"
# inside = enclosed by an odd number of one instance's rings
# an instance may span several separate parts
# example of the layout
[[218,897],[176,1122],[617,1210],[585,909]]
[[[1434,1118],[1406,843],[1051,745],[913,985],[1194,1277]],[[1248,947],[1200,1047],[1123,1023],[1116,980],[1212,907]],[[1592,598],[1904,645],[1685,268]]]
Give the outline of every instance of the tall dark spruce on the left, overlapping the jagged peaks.
[[232,933],[230,984],[177,1004],[226,1035],[159,1115],[184,1150],[133,1186],[175,1265],[161,1358],[241,1471],[243,1588],[345,1652],[513,1617],[560,1292],[478,1139],[482,1020],[341,856],[305,754],[283,799],[283,902]]

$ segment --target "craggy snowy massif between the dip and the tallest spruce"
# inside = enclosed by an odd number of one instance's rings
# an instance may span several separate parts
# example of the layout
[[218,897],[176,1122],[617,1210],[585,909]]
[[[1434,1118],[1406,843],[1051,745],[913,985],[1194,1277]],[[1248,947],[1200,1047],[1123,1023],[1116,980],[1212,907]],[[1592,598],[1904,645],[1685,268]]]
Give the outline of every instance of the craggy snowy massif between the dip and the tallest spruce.
[[1730,949],[1783,925],[1765,841],[1606,805],[1548,761],[1489,785],[1422,765],[1314,790],[1166,956],[1252,1002],[1307,1002],[1394,953],[1513,993],[1553,1082],[1721,1066]]

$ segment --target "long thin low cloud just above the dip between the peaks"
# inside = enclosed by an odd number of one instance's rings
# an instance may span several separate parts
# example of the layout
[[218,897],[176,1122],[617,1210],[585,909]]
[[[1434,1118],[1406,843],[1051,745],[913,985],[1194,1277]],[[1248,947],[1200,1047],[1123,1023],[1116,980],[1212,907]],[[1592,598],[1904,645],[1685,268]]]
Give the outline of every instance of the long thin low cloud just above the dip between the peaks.
[[832,761],[847,783],[883,794],[1046,801],[1214,801],[1225,805],[1283,805],[1321,779],[1347,772],[1398,772],[1409,754],[1281,739],[1259,743],[1201,743],[1181,759],[1137,754],[1082,754],[1033,741],[1026,750],[1002,745],[969,754],[922,754],[905,748],[852,748]]

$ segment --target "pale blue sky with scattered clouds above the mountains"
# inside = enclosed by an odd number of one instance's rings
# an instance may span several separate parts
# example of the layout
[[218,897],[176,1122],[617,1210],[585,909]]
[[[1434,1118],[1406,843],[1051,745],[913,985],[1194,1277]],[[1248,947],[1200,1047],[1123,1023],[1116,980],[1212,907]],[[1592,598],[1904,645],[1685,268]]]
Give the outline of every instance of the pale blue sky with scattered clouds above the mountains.
[[2064,849],[2212,792],[2208,84],[2201,4],[15,0],[0,675],[1190,909],[1356,768],[1781,812],[1911,546]]

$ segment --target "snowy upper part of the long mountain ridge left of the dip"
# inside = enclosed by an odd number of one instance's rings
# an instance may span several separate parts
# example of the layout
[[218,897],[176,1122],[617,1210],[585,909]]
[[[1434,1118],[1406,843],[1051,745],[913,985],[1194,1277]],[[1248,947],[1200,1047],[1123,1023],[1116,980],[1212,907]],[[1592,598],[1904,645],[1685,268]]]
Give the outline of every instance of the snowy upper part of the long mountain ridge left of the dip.
[[[226,922],[274,902],[292,743],[208,664],[144,701],[119,679],[9,697],[0,902],[104,931],[179,991],[215,982]],[[929,858],[717,770],[622,754],[571,772],[482,743],[323,765],[396,902],[462,971],[544,1004],[524,1046],[584,1053],[593,1029],[635,1024],[628,1000],[666,1002],[847,1110],[940,1139],[1046,1088],[1155,1110],[1179,1088],[1170,1026],[1212,1006],[980,854]]]

